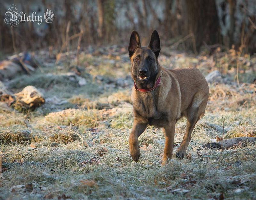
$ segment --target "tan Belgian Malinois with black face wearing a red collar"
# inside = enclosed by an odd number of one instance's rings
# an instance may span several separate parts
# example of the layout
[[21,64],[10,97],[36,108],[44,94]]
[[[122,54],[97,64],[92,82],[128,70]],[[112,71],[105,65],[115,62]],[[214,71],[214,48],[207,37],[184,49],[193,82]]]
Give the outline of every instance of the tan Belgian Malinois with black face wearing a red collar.
[[165,146],[162,164],[172,159],[175,124],[182,116],[187,128],[176,157],[184,158],[196,122],[204,115],[209,96],[208,83],[196,68],[165,69],[158,63],[160,39],[153,31],[148,47],[140,46],[135,30],[128,47],[134,80],[132,103],[134,121],[129,136],[130,154],[140,158],[138,137],[148,125],[164,128]]

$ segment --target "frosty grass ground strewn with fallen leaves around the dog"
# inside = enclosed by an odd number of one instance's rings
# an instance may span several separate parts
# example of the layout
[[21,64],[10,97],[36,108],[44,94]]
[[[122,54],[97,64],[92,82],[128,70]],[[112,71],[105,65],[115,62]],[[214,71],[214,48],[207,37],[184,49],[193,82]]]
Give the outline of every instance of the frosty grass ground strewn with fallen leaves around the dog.
[[[59,62],[47,51],[37,52],[36,72],[4,82],[12,92],[35,86],[45,104],[26,113],[1,104],[0,199],[256,198],[255,144],[197,150],[222,135],[256,136],[255,85],[243,83],[252,83],[255,58],[239,58],[237,85],[232,52],[191,56],[163,48],[159,62],[164,67],[197,67],[205,76],[222,73],[209,84],[206,112],[186,158],[174,157],[164,167],[161,129],[148,127],[139,137],[138,162],[129,154],[133,82],[125,48],[82,52],[78,66],[76,52],[63,54]],[[176,124],[174,154],[185,127],[185,119]]]

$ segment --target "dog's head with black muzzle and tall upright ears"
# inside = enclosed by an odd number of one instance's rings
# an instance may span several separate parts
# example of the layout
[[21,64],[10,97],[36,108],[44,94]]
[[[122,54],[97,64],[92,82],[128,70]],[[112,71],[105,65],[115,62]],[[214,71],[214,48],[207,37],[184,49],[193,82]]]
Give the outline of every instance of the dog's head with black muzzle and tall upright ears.
[[141,89],[152,88],[159,72],[157,57],[160,52],[160,39],[158,33],[153,31],[147,48],[140,46],[140,36],[133,31],[128,51],[132,63],[132,78],[136,85]]

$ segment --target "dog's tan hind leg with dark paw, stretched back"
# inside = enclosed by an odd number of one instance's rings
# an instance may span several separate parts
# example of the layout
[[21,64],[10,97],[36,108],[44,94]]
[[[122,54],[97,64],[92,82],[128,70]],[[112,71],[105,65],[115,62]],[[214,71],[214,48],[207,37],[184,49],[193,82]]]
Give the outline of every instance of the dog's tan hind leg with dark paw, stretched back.
[[196,122],[200,119],[201,116],[204,115],[207,100],[208,94],[200,91],[195,94],[191,106],[186,111],[187,128],[180,147],[175,154],[176,158],[184,158]]

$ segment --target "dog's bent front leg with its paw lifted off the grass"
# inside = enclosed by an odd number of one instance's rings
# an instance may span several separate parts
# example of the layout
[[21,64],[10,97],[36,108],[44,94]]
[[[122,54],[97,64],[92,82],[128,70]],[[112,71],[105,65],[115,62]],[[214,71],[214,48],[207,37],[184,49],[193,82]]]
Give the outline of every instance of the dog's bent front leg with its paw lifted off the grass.
[[129,136],[129,149],[132,159],[137,161],[140,158],[140,144],[138,137],[144,132],[147,128],[147,123],[140,122],[136,119],[133,121],[132,132]]

